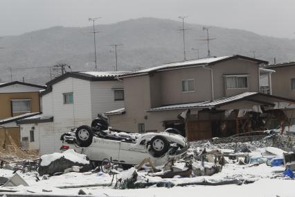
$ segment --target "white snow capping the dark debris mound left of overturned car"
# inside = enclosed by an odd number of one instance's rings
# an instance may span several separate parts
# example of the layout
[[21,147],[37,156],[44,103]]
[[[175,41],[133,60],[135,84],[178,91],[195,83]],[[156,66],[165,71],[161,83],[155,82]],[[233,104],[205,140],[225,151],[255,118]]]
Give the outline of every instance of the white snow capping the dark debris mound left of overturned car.
[[49,155],[42,155],[41,156],[41,163],[40,166],[48,166],[51,162],[64,157],[66,160],[70,160],[72,162],[77,162],[81,164],[89,164],[89,160],[87,160],[86,155],[82,155],[76,153],[73,149],[69,149],[64,151],[64,153],[52,153]]

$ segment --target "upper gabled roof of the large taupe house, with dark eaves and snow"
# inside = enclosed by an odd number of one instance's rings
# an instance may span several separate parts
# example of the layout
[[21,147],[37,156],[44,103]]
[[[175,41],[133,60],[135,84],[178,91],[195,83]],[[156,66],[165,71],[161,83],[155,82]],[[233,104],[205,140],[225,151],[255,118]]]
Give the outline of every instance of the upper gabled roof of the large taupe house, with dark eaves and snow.
[[138,76],[138,75],[145,75],[152,73],[154,71],[165,71],[169,69],[181,69],[181,68],[188,68],[188,67],[201,67],[206,65],[215,65],[218,62],[224,62],[227,60],[233,60],[233,59],[242,59],[242,60],[248,60],[252,62],[257,62],[258,64],[267,64],[267,61],[264,60],[258,60],[255,58],[249,58],[242,55],[229,55],[229,56],[223,56],[223,57],[211,57],[211,58],[202,58],[197,60],[188,60],[188,61],[182,61],[182,62],[172,62],[168,64],[164,64],[157,67],[151,67],[148,69],[143,69],[140,71],[135,71],[131,74],[125,74],[123,76],[120,76],[120,78],[125,78],[129,76]]

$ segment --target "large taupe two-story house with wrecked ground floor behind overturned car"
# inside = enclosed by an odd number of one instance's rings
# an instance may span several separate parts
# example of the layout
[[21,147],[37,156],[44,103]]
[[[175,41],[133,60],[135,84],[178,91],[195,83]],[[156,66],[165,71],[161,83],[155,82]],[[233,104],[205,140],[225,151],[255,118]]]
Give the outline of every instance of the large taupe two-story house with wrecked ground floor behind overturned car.
[[[109,124],[129,132],[174,127],[186,130],[189,139],[204,139],[221,136],[217,130],[226,121],[225,135],[234,134],[242,110],[267,104],[267,98],[259,93],[260,65],[266,64],[231,55],[174,62],[121,76],[125,108],[107,112]],[[240,109],[240,114],[233,114],[233,109]],[[190,110],[192,125],[177,119],[185,110]],[[226,119],[225,111],[231,114]]]

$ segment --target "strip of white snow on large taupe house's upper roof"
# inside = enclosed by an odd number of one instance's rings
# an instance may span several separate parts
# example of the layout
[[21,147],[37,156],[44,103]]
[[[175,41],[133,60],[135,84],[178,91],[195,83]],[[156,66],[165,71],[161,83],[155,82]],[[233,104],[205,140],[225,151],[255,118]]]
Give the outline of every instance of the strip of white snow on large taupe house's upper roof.
[[209,63],[212,63],[212,62],[216,62],[218,60],[223,60],[223,59],[226,59],[226,58],[230,58],[232,57],[233,55],[231,56],[223,56],[223,57],[212,57],[212,58],[203,58],[203,59],[197,59],[197,60],[188,60],[188,61],[182,61],[182,62],[173,62],[173,63],[168,63],[168,64],[164,64],[164,65],[161,65],[161,66],[157,66],[157,67],[151,67],[151,68],[148,68],[148,69],[143,69],[143,70],[140,70],[140,71],[136,71],[134,72],[134,74],[141,74],[141,73],[148,73],[150,71],[157,71],[159,69],[170,69],[170,68],[174,68],[174,67],[181,67],[181,66],[190,66],[190,65],[207,65]]

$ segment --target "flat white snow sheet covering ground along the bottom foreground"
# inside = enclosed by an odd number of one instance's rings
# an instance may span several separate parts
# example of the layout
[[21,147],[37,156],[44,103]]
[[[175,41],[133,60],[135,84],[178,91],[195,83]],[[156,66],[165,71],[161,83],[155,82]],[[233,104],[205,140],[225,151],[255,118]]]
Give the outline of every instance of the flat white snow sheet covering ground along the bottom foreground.
[[[189,187],[149,187],[145,189],[113,189],[113,187],[84,187],[87,194],[95,196],[295,196],[295,180],[281,177],[283,166],[271,167],[266,164],[259,166],[226,164],[221,173],[212,176],[195,178],[172,178],[172,182],[193,182],[196,180],[220,180],[222,178],[248,178],[256,180],[247,185],[222,186],[189,186]],[[81,188],[59,189],[57,187],[73,185],[109,184],[111,176],[105,173],[66,173],[52,176],[48,180],[36,182],[35,173],[19,173],[29,187],[10,187],[19,194],[64,194],[77,195]],[[0,169],[0,176],[11,176],[12,171]],[[3,189],[3,188],[1,188]],[[51,192],[44,192],[42,189]]]

